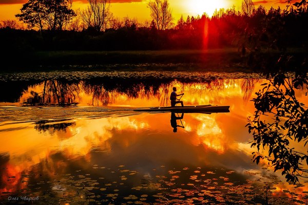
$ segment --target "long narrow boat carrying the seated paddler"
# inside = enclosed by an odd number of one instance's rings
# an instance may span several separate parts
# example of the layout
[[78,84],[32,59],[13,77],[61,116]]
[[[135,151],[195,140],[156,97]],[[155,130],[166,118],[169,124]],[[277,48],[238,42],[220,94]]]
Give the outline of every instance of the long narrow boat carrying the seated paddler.
[[219,105],[192,105],[175,107],[145,107],[134,111],[171,111],[175,113],[228,113],[230,106]]

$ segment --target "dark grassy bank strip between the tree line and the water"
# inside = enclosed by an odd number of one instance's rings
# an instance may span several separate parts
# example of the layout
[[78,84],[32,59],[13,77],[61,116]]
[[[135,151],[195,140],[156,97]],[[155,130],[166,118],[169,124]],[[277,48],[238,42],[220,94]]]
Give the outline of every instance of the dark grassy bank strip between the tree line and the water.
[[[300,53],[299,50],[290,52]],[[270,51],[273,59],[279,54]],[[268,53],[266,53],[268,58]],[[250,71],[248,57],[237,48],[159,51],[40,51],[20,54],[18,61],[5,58],[2,71],[99,69],[99,70],[204,70]]]

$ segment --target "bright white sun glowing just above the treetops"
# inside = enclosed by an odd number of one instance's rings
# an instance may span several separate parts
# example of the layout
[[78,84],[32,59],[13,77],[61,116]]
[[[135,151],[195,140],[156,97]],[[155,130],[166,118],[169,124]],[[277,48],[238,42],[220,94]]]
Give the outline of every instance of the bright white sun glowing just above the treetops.
[[202,15],[204,12],[212,16],[215,10],[225,8],[225,0],[189,0],[189,10],[191,13]]

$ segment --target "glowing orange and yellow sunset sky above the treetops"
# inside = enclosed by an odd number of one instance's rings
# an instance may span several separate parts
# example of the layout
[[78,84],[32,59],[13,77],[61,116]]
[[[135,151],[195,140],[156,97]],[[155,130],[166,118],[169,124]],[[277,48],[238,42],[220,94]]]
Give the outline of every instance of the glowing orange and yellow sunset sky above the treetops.
[[[0,0],[0,21],[15,19],[14,15],[20,12],[22,4],[27,0]],[[111,0],[111,12],[114,16],[131,18],[136,17],[139,22],[150,19],[149,9],[147,8],[148,0]],[[254,1],[255,5],[263,5],[269,9],[271,7],[285,7],[285,0],[264,0]],[[240,8],[241,0],[169,0],[172,14],[175,21],[181,15],[197,15],[206,12],[211,16],[216,8],[230,8],[235,6]],[[73,8],[85,8],[87,0],[74,0]]]

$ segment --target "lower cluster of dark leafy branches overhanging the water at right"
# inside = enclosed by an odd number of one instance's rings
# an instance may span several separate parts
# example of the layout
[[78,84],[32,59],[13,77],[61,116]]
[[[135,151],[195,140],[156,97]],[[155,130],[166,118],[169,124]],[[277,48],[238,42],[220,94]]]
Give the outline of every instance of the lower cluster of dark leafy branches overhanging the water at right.
[[[307,85],[307,81],[299,82],[287,74],[277,74],[271,83],[263,84],[253,99],[256,107],[255,116],[247,124],[249,133],[253,133],[257,153],[253,153],[254,161],[268,160],[274,170],[283,170],[287,181],[297,181],[301,172],[307,172],[302,161],[308,163],[307,153],[301,153],[300,147],[308,142],[308,109],[295,96],[296,85]],[[264,116],[272,116],[266,122]],[[297,148],[291,141],[298,142]],[[264,148],[268,155],[263,156]]]

